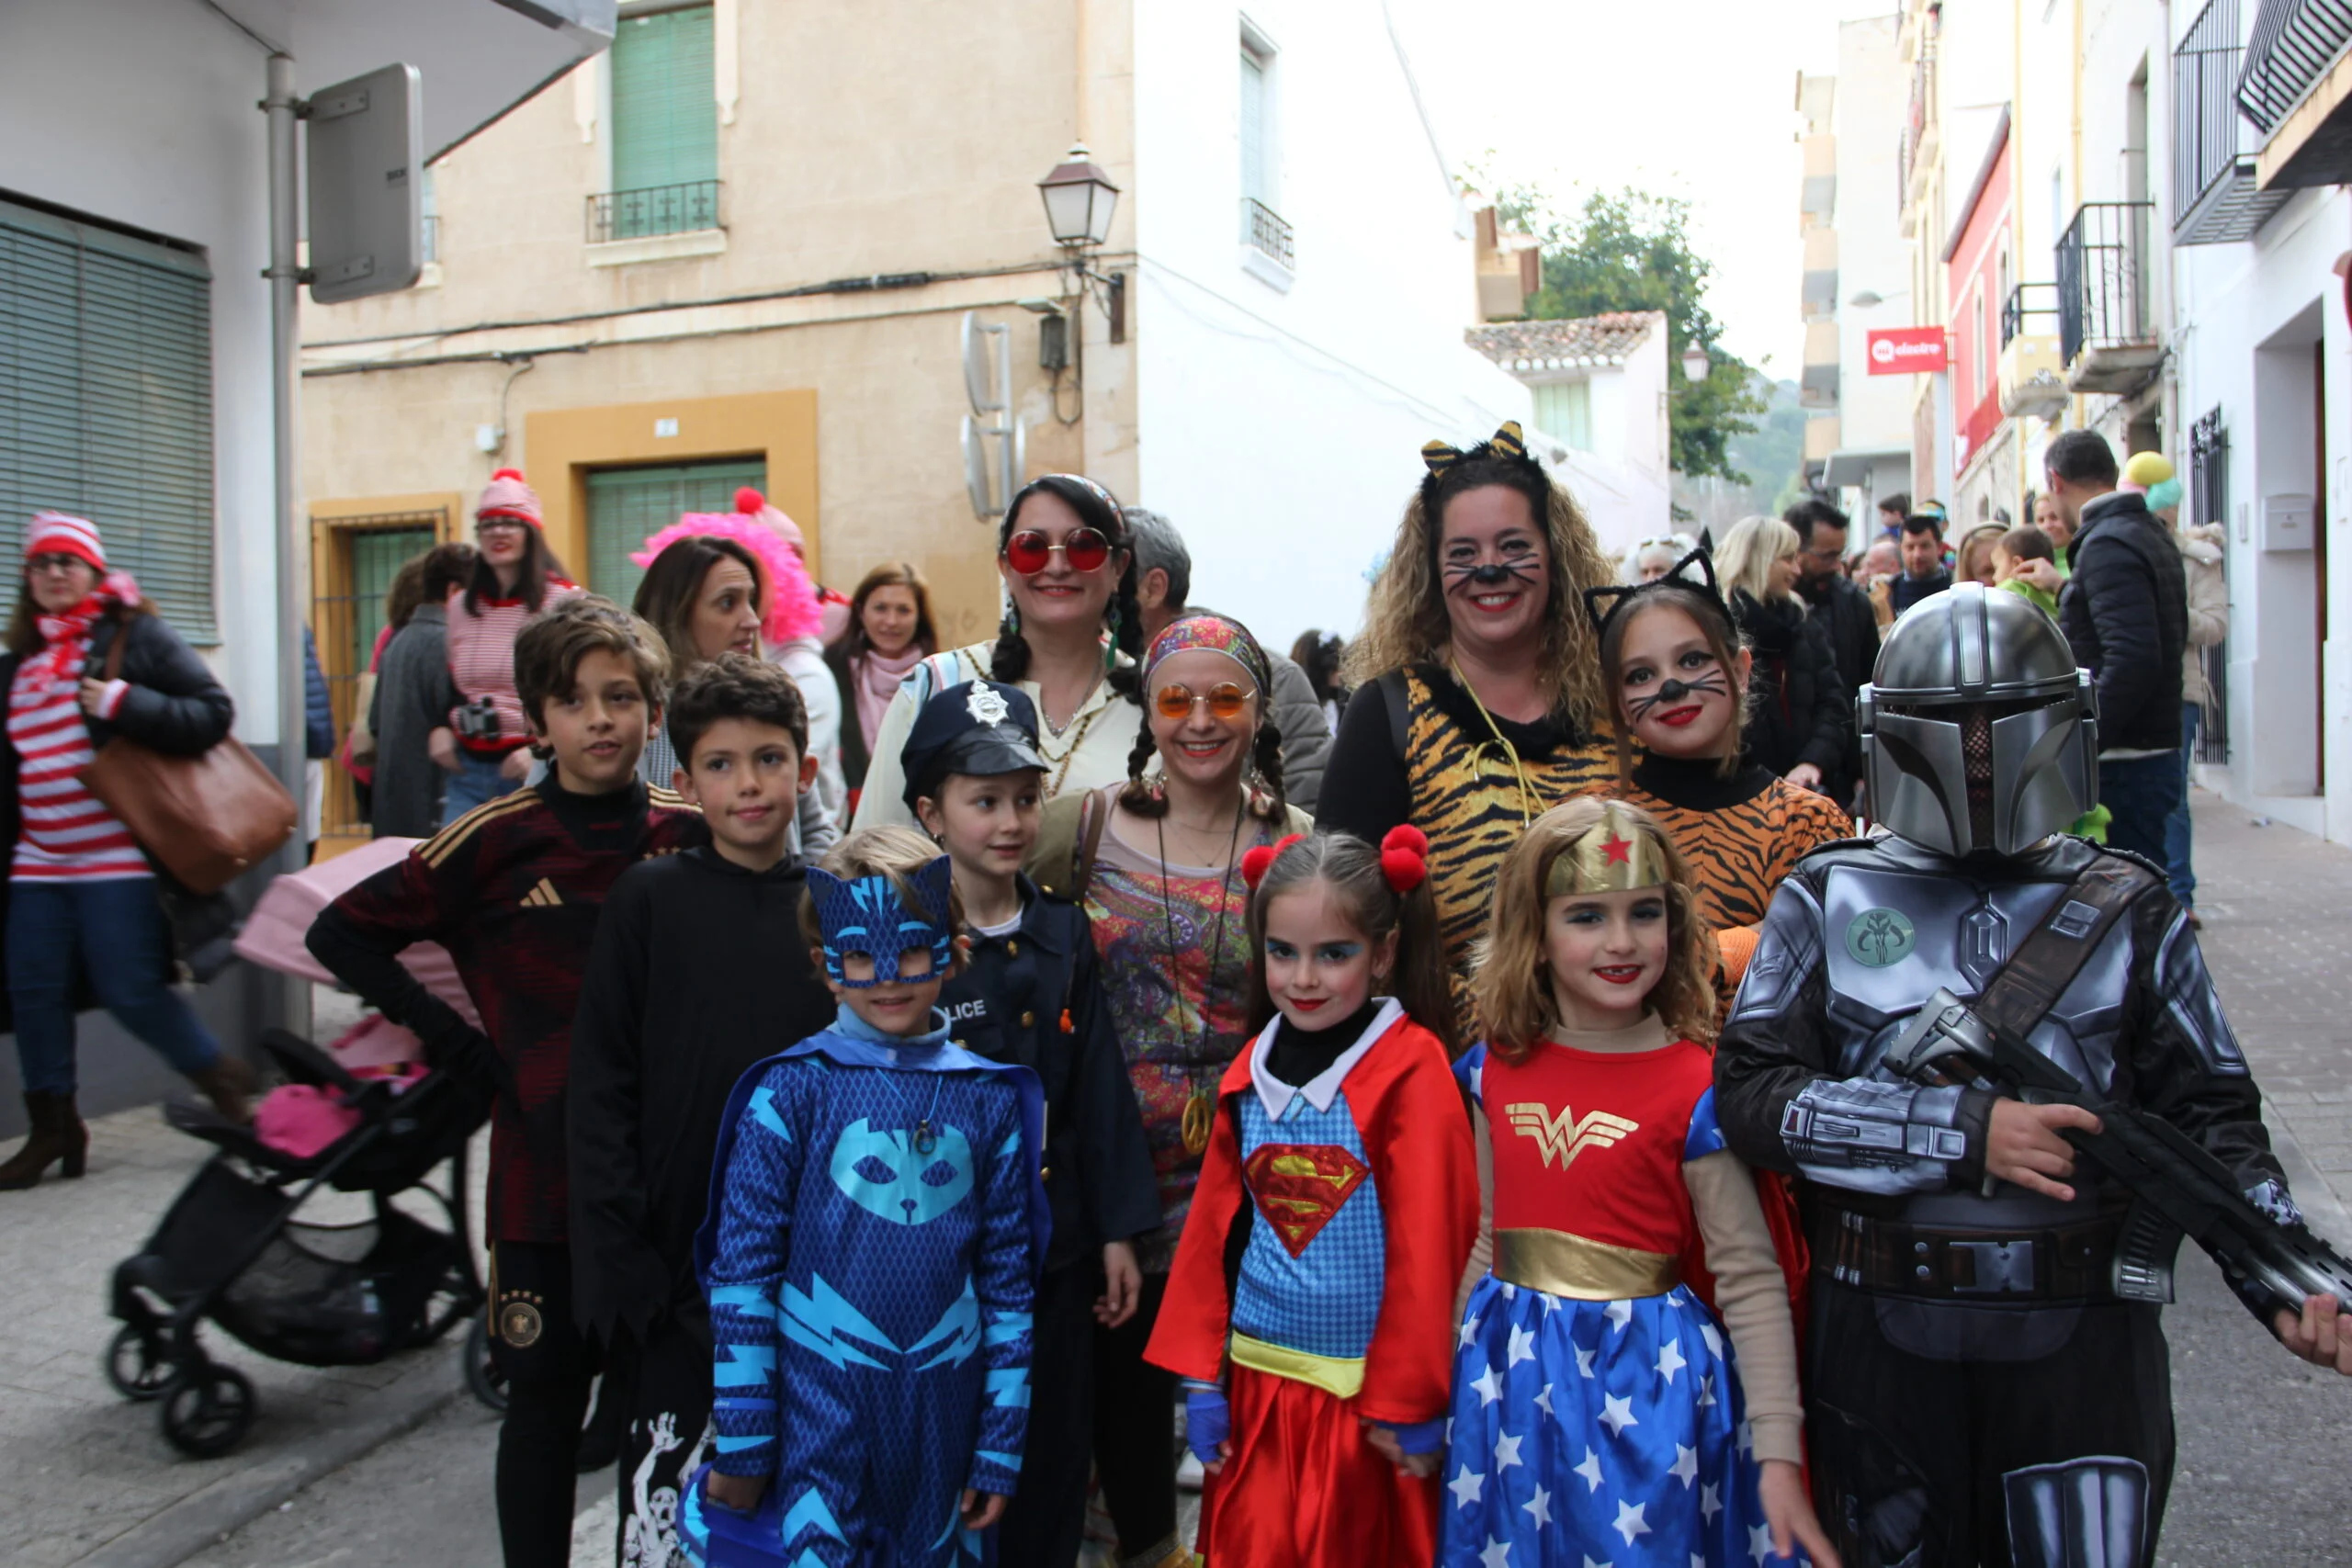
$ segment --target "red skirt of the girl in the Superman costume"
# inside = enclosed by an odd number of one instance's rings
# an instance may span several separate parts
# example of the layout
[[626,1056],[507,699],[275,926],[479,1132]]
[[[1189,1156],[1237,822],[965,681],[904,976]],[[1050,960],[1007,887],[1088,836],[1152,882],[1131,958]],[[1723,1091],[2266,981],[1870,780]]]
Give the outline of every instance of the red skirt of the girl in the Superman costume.
[[1209,1568],[1425,1568],[1439,1476],[1399,1474],[1355,1401],[1230,1368],[1232,1458],[1200,1500]]

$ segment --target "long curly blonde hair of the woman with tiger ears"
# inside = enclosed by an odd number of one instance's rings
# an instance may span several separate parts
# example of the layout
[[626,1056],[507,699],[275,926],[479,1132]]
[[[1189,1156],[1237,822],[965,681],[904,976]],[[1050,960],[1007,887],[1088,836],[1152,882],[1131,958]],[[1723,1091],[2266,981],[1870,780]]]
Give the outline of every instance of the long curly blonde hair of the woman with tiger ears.
[[[1468,491],[1484,484],[1503,484],[1526,494],[1517,473],[1524,465],[1498,461],[1461,463],[1456,475],[1435,487],[1437,512]],[[1543,614],[1543,651],[1538,668],[1552,693],[1552,710],[1564,712],[1576,726],[1592,736],[1609,724],[1609,698],[1602,689],[1602,661],[1592,639],[1592,621],[1585,616],[1583,592],[1616,581],[1616,562],[1602,550],[1585,522],[1585,510],[1576,505],[1557,480],[1545,484],[1543,543],[1550,555],[1550,604]],[[1416,489],[1397,524],[1395,548],[1381,569],[1371,595],[1364,602],[1364,632],[1348,644],[1348,684],[1367,686],[1390,670],[1418,663],[1439,663],[1454,637],[1446,618],[1444,578],[1437,574],[1437,545],[1444,527],[1442,517],[1430,517],[1425,491]],[[1534,496],[1529,496],[1534,503]]]

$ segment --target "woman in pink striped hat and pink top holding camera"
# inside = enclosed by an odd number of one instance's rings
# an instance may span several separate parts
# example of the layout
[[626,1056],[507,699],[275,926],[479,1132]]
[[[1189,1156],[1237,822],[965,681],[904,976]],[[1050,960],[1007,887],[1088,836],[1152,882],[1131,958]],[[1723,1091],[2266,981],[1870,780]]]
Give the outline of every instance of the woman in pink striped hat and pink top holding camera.
[[532,726],[515,696],[515,632],[579,585],[548,548],[534,491],[520,468],[501,468],[473,508],[473,578],[449,595],[449,679],[456,708],[426,745],[449,769],[442,825],[522,788],[532,773]]

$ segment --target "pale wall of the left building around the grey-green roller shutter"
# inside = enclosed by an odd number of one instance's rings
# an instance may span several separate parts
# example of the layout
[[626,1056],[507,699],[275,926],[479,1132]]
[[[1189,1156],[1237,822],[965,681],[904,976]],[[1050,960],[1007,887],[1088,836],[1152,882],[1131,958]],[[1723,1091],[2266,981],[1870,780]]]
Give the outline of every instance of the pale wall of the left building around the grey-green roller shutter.
[[[9,7],[0,195],[200,244],[212,266],[214,604],[273,604],[268,167],[261,49],[200,5]],[[96,520],[106,527],[106,520]],[[21,517],[0,517],[14,541]],[[207,649],[238,733],[278,738],[275,642]]]

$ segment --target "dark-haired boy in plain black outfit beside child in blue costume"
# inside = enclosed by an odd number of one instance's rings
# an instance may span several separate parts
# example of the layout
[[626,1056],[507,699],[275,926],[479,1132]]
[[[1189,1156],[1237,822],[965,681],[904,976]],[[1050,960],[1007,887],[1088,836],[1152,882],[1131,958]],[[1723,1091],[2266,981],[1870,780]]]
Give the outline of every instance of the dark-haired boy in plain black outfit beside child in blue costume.
[[786,853],[816,776],[800,689],[748,658],[670,701],[680,792],[710,844],[623,875],[604,903],[572,1027],[572,1255],[581,1324],[623,1420],[619,1561],[668,1563],[680,1476],[710,1425],[710,1314],[694,1232],[743,1070],[833,1023]]

